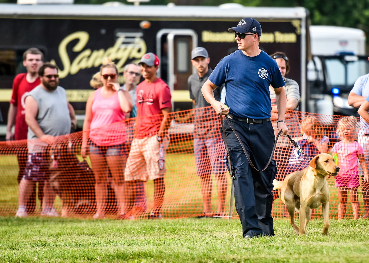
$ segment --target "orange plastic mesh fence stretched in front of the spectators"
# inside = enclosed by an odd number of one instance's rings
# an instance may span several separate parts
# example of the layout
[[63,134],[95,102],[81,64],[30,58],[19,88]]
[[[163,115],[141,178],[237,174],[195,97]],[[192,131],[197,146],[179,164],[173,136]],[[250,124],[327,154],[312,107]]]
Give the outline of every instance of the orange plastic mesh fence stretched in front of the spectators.
[[[368,165],[368,160],[358,162],[357,156],[363,153],[362,148],[366,148],[366,156],[368,156],[369,136],[367,138],[359,135],[359,119],[356,118],[354,118],[354,125],[352,125],[352,119],[341,121],[341,126],[346,129],[342,128],[343,130],[337,133],[338,121],[341,118],[342,116],[288,112],[286,124],[290,130],[289,134],[308,158],[313,158],[321,152],[336,154],[335,157],[337,157],[338,165],[341,166],[341,171],[347,172],[339,173],[336,177],[327,177],[330,190],[330,217],[357,218],[364,215],[365,208],[368,211],[369,185],[362,179],[364,172],[361,168],[361,165]],[[27,156],[27,141],[1,142],[0,215],[16,214],[18,191],[21,191],[24,200],[22,207],[26,208],[27,216],[42,215],[42,201],[40,200],[51,198],[51,203],[54,202],[55,210],[61,216],[92,218],[97,209],[100,209],[103,211],[99,215],[100,218],[117,218],[123,212],[127,212],[128,218],[148,218],[154,207],[160,207],[160,196],[164,188],[161,185],[154,191],[153,180],[144,182],[124,180],[127,155],[133,148],[131,148],[131,142],[135,120],[126,120],[125,124],[128,134],[127,144],[120,149],[118,156],[103,149],[103,153],[111,155],[107,158],[95,152],[93,155],[90,153],[83,161],[81,157],[82,132],[58,137],[54,144],[43,148],[42,156]],[[277,134],[276,119],[272,119],[272,125]],[[113,126],[117,129],[117,124]],[[234,202],[231,199],[230,174],[223,170],[225,149],[219,127],[220,118],[210,108],[172,113],[168,140],[163,142],[166,148],[166,155],[164,155],[165,194],[161,209],[163,218],[201,216],[205,209],[207,209],[207,216],[228,218],[231,210],[231,216],[237,217]],[[196,154],[196,158],[201,160],[201,163],[196,166],[194,143],[201,148],[202,142],[199,139],[204,138],[207,139],[208,144],[204,144],[203,151]],[[338,143],[339,141],[341,142]],[[137,154],[137,151],[134,158],[129,157],[131,158],[129,163],[135,165],[136,168],[142,168],[139,173],[135,173],[135,176],[139,176],[135,177],[136,179],[145,179],[148,174],[161,173],[158,168],[155,168],[158,167],[155,165],[158,160],[153,157],[158,156],[159,145],[156,136],[155,140],[144,141],[140,144],[141,149],[152,149],[153,154],[145,156],[147,163],[150,164],[149,168],[143,161],[137,163],[144,158],[143,155]],[[205,150],[206,147],[209,151]],[[344,153],[350,154],[342,157]],[[280,137],[273,157],[277,161],[277,180],[283,180],[293,171],[306,167],[308,161],[301,160],[302,157],[302,153],[286,137]],[[27,159],[32,161],[33,166],[30,165],[25,170]],[[214,163],[217,167],[212,167]],[[128,176],[133,178],[133,173],[130,173],[131,169],[126,169],[126,171],[129,171]],[[37,184],[32,180],[22,180],[20,187],[19,182],[24,174],[28,179],[41,178],[41,180]],[[197,174],[201,174],[203,180],[200,180]],[[42,178],[46,180],[43,181]],[[204,197],[202,192],[206,194]],[[276,218],[284,218],[286,210],[279,197],[279,192],[274,191],[273,193],[275,200],[272,215]],[[156,201],[154,201],[154,195]],[[97,205],[96,200],[99,198]],[[210,205],[204,208],[204,203],[205,206],[208,203]],[[232,209],[230,209],[231,204]],[[130,209],[129,213],[124,211],[132,206],[133,209]],[[56,215],[47,213],[48,210],[44,212],[46,215]],[[313,218],[321,216],[321,208],[313,209]]]

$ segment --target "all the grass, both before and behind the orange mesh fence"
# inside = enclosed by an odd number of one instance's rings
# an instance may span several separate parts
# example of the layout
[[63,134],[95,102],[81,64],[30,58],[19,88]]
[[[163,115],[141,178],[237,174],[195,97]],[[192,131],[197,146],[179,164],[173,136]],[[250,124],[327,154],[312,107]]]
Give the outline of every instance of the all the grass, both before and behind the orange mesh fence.
[[[182,151],[181,147],[189,146],[176,145],[175,149]],[[162,211],[165,219],[116,221],[38,216],[16,219],[17,159],[15,156],[1,156],[0,263],[368,262],[369,220],[335,219],[337,189],[334,178],[328,179],[330,216],[333,218],[329,235],[320,234],[322,219],[310,221],[305,236],[297,236],[288,220],[276,219],[276,236],[244,240],[238,219],[191,217],[202,211],[202,201],[200,180],[196,176],[194,156],[190,150],[184,153],[171,150],[166,164],[166,194]],[[146,184],[146,195],[150,209],[153,205],[150,181]],[[215,200],[214,191],[213,205]],[[55,206],[59,211],[59,199],[56,199]],[[273,208],[273,215],[278,216],[282,211],[280,199],[276,199]],[[350,204],[348,209],[351,209]],[[320,216],[321,209],[316,209],[315,213]],[[237,216],[235,211],[233,215]]]

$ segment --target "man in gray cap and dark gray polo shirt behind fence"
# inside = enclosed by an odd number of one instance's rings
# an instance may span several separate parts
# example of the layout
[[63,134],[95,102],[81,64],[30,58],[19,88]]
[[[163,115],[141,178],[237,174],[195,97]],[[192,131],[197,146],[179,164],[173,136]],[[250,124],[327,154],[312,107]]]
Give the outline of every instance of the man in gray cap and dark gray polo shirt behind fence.
[[[203,47],[197,47],[191,52],[191,62],[197,72],[189,76],[188,88],[194,107],[193,147],[197,175],[201,180],[204,211],[199,217],[221,217],[225,215],[225,195],[227,193],[227,178],[225,173],[225,148],[219,133],[219,123],[215,110],[205,100],[201,87],[207,81],[213,69],[209,68],[210,58]],[[220,100],[221,89],[214,90],[214,97]],[[211,209],[211,192],[213,182],[211,174],[217,178],[218,210],[214,214]]]

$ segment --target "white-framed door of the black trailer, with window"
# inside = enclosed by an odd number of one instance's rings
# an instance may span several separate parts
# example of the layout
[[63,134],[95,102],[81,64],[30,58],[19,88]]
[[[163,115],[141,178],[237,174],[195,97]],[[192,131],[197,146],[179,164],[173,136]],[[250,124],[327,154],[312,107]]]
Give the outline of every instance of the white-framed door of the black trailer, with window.
[[158,74],[172,92],[173,111],[192,108],[187,79],[196,72],[191,64],[195,47],[197,34],[191,29],[163,29],[156,35],[156,52],[161,59]]

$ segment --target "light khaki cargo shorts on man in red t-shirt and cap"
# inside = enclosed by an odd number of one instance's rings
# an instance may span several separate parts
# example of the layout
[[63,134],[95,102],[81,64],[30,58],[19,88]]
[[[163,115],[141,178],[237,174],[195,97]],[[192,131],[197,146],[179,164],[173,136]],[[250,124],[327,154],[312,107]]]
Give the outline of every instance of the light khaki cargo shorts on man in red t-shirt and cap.
[[[168,138],[163,140],[163,157],[166,158],[166,148],[169,144]],[[159,142],[155,136],[142,139],[133,139],[131,151],[125,165],[125,181],[147,181],[164,177],[165,165],[159,169]]]

